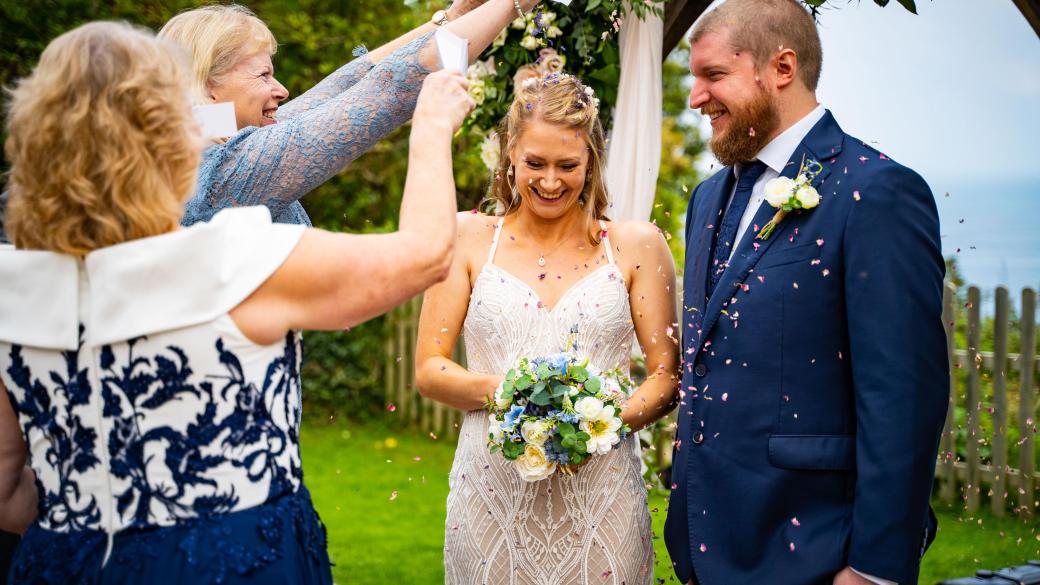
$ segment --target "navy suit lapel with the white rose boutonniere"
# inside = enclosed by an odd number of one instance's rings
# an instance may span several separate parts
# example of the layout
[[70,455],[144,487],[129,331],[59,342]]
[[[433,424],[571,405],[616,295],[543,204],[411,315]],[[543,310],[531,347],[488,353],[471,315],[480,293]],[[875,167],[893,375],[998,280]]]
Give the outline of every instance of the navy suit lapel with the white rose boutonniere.
[[[820,174],[816,175],[812,180],[812,185],[820,188],[820,185],[827,179],[831,173],[831,164],[834,158],[839,152],[841,152],[841,143],[844,135],[841,132],[841,128],[838,127],[837,122],[831,112],[824,115],[824,118],[813,126],[812,130],[805,136],[802,143],[795,150],[795,154],[788,159],[787,164],[784,167],[783,172],[780,174],[783,177],[794,179],[801,168],[802,160],[816,160],[822,166],[823,169]],[[822,158],[824,157],[824,158]],[[804,212],[804,211],[803,211]],[[812,211],[809,211],[812,212]],[[729,300],[733,297],[734,291],[738,286],[740,286],[744,281],[751,274],[751,271],[758,263],[759,258],[765,254],[774,243],[784,237],[787,237],[786,231],[792,223],[791,220],[795,215],[788,215],[787,219],[780,223],[779,226],[768,239],[758,238],[758,230],[762,228],[776,213],[776,209],[771,206],[768,202],[762,202],[755,212],[755,218],[748,230],[744,233],[740,241],[737,244],[736,250],[733,253],[733,258],[730,261],[729,266],[726,272],[723,273],[722,278],[719,280],[719,285],[716,287],[714,294],[711,298],[707,300],[707,306],[704,309],[704,322],[701,327],[703,334],[699,336],[699,342],[695,352],[701,351],[704,345],[704,340],[708,336],[708,332],[714,327],[714,324],[719,321],[719,315],[729,304]],[[707,260],[710,261],[710,260]],[[704,280],[702,273],[701,280]],[[703,286],[703,285],[702,285]]]

